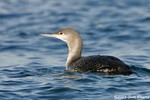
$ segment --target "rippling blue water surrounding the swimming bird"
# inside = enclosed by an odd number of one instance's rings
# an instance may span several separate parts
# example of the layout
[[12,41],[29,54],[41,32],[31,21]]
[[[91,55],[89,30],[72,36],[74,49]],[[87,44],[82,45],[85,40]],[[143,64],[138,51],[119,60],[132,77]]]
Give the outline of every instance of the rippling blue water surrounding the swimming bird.
[[[66,27],[83,56],[116,56],[136,74],[65,71],[66,44],[39,34]],[[150,0],[0,0],[0,100],[134,96],[150,99]]]

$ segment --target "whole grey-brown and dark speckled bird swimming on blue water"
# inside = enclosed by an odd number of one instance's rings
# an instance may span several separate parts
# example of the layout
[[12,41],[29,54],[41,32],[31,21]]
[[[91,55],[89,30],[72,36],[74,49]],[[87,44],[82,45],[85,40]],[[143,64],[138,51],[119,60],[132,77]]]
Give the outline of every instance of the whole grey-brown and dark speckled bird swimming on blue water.
[[41,36],[58,38],[67,44],[69,53],[66,69],[69,71],[126,75],[132,73],[130,67],[117,57],[106,55],[81,57],[82,39],[73,28],[64,28],[52,34],[41,34]]

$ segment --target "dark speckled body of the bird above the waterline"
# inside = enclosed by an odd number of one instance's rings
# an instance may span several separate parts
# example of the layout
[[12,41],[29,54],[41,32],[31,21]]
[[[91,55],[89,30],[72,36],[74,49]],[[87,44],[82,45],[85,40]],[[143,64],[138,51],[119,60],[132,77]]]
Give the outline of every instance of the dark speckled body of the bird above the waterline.
[[107,74],[131,74],[129,66],[113,56],[82,57],[68,66],[69,70],[78,72],[94,71]]

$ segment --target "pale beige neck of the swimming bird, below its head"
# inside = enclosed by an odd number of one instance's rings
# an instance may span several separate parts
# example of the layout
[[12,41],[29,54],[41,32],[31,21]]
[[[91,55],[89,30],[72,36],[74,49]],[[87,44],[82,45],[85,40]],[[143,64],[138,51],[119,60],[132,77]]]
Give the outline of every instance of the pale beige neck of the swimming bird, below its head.
[[66,62],[66,69],[68,69],[68,67],[72,65],[75,61],[80,59],[82,53],[82,40],[80,37],[74,38],[73,40],[69,41],[67,45],[69,53]]

